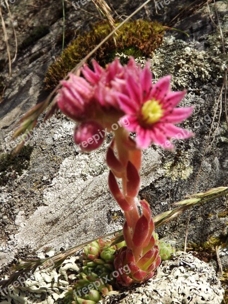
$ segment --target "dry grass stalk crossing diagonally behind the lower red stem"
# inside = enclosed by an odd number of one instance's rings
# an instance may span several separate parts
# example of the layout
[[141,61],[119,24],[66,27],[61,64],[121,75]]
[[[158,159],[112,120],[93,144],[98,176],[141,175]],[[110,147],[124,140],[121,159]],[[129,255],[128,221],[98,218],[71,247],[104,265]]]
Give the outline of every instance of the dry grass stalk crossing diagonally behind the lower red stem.
[[[208,194],[210,193],[210,197],[208,197]],[[174,203],[173,205],[180,205],[180,207],[174,208],[172,210],[168,210],[166,212],[163,212],[161,214],[156,215],[153,220],[155,223],[155,227],[160,227],[161,225],[164,225],[168,222],[170,222],[172,219],[177,218],[179,215],[181,215],[184,211],[186,211],[188,208],[191,208],[195,205],[202,204],[207,201],[211,201],[215,198],[219,198],[222,196],[228,195],[228,187],[218,187],[208,190],[207,192],[196,194],[193,196],[197,196],[199,198],[196,199],[187,199],[178,203]],[[108,235],[102,236],[101,238],[107,238],[112,235],[116,234],[115,237],[112,238],[112,243],[110,246],[118,244],[124,240],[123,237],[123,231],[119,230],[113,233],[110,233]],[[9,284],[12,284],[13,282],[17,281],[19,277],[23,276],[25,273],[34,273],[35,270],[40,267],[41,269],[46,269],[48,267],[50,268],[57,268],[61,265],[61,263],[70,255],[74,254],[75,252],[82,249],[84,246],[90,244],[91,242],[97,240],[93,239],[90,240],[84,244],[77,245],[75,247],[72,247],[70,249],[67,249],[65,251],[62,251],[60,253],[55,254],[52,257],[43,258],[43,259],[30,259],[26,260],[18,265],[16,265],[16,272],[13,273],[9,279],[0,281],[0,286],[5,287]]]

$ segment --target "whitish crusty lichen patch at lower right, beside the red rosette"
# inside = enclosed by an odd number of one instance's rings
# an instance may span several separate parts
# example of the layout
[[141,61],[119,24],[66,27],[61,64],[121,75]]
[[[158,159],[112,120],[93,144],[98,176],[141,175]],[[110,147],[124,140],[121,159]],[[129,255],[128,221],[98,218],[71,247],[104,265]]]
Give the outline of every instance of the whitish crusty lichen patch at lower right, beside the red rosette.
[[140,287],[105,297],[101,304],[220,304],[224,290],[215,271],[190,253],[177,252]]

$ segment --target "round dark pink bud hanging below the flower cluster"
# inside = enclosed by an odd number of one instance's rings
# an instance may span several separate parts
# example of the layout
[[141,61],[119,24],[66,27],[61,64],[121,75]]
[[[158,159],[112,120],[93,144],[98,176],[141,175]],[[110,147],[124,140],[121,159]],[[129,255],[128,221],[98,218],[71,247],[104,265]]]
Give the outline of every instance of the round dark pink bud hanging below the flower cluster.
[[74,130],[73,139],[83,151],[90,152],[99,148],[104,141],[104,136],[100,132],[102,126],[96,122],[84,122]]

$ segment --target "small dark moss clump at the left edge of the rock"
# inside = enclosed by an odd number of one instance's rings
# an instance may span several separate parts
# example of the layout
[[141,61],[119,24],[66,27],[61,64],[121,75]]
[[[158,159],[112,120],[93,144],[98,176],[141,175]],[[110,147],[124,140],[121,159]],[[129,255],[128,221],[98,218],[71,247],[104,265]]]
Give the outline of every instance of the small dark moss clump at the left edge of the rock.
[[30,155],[33,147],[24,146],[17,155],[0,155],[0,185],[6,185],[9,179],[16,177],[16,172],[21,175],[23,170],[28,168]]

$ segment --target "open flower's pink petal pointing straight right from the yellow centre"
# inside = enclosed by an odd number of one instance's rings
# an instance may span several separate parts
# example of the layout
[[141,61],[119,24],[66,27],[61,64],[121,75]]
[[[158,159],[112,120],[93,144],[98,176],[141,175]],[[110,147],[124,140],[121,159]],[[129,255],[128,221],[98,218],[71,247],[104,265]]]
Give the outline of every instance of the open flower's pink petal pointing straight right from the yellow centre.
[[164,113],[164,117],[160,121],[173,124],[181,123],[192,114],[193,109],[193,106],[174,108],[169,113]]

